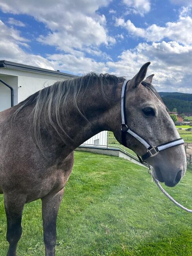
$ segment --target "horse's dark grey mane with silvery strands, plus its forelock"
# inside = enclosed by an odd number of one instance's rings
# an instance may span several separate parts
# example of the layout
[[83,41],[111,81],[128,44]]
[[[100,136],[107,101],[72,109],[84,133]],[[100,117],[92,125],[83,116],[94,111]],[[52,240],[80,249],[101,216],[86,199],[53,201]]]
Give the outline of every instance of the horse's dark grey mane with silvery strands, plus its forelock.
[[[67,124],[68,102],[72,103],[76,111],[86,119],[84,113],[77,104],[79,93],[85,95],[87,88],[93,87],[97,83],[104,100],[108,100],[109,86],[114,88],[118,83],[124,82],[124,77],[117,77],[110,74],[96,74],[91,72],[85,76],[55,82],[53,85],[37,91],[18,104],[18,108],[13,114],[12,122],[15,121],[18,113],[27,106],[33,106],[31,112],[31,132],[37,146],[41,149],[41,129],[45,128],[48,132],[54,129],[61,140],[64,136],[71,139],[63,128]],[[150,83],[142,81],[148,90],[161,100],[161,97]],[[162,101],[162,100],[161,100]],[[42,150],[41,150],[42,151]]]

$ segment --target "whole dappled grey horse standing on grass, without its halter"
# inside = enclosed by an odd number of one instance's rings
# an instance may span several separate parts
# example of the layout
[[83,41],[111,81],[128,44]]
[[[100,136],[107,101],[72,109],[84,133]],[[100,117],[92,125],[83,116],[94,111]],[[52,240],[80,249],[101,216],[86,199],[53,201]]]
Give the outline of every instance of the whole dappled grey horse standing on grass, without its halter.
[[[55,256],[59,205],[72,172],[74,150],[84,141],[108,130],[139,156],[149,152],[152,156],[142,140],[125,133],[123,126],[150,145],[180,140],[152,77],[144,80],[149,65],[144,64],[126,83],[126,97],[121,94],[125,78],[90,73],[56,82],[0,113],[0,193],[7,217],[7,256],[16,255],[24,204],[39,198],[45,255]],[[121,120],[122,98],[127,124]],[[146,162],[167,186],[175,186],[186,171],[183,145],[159,151]]]

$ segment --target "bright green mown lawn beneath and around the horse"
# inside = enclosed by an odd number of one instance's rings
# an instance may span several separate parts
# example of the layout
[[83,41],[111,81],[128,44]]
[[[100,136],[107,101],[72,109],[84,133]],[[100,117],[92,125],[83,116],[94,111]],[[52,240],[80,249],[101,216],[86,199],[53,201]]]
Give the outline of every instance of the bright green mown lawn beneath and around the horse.
[[[75,153],[57,220],[57,256],[190,256],[192,215],[150,181],[147,169],[117,157]],[[192,207],[192,172],[167,191]],[[41,201],[26,204],[18,256],[44,255]],[[6,255],[0,196],[0,255]]]

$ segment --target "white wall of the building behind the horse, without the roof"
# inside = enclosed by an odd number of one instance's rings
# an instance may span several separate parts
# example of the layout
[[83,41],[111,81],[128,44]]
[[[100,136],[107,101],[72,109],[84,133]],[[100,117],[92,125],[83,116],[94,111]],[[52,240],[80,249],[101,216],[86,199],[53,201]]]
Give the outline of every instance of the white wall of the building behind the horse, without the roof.
[[[26,99],[33,93],[52,85],[56,81],[63,81],[72,77],[54,76],[18,69],[0,68],[0,78],[14,89],[14,105]],[[11,107],[11,90],[0,83],[0,111]],[[100,132],[83,144],[107,146],[107,131]]]

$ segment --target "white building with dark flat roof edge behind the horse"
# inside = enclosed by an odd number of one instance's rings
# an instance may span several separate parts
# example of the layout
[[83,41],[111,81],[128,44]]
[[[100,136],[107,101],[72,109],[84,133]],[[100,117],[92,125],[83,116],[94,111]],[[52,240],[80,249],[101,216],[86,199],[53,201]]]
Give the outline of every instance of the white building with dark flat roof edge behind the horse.
[[[11,61],[0,61],[0,111],[19,102],[56,81],[75,77],[72,74],[41,69]],[[89,139],[86,144],[107,145],[107,132]]]

